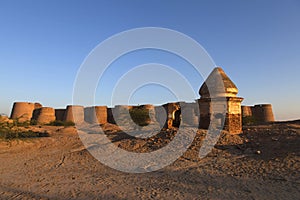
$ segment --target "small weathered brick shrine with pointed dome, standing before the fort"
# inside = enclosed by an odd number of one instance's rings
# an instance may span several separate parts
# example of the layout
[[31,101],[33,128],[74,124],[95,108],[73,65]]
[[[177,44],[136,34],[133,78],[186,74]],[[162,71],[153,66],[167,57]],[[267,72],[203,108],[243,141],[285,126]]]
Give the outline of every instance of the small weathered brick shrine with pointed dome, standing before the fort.
[[243,98],[238,88],[220,67],[215,68],[199,90],[199,128],[222,128],[231,134],[242,132]]

